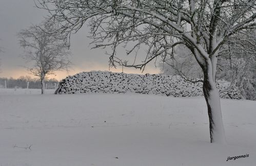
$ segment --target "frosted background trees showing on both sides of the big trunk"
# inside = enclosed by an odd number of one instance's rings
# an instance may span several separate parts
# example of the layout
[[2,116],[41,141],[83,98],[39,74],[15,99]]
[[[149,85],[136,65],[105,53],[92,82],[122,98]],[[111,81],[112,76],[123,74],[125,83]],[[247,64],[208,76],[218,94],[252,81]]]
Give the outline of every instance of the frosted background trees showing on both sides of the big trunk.
[[[256,36],[253,31],[249,32],[249,34],[250,36]],[[243,36],[240,35],[240,37]],[[250,42],[244,42],[243,45],[230,42],[222,47],[218,56],[216,79],[228,81],[230,86],[221,90],[220,93],[232,91],[233,86],[237,86],[244,99],[256,99],[256,82],[254,81],[254,68],[256,67],[255,45],[256,40],[254,39],[250,40]],[[249,52],[248,48],[250,48]],[[190,50],[186,49],[185,46],[175,48],[173,57],[166,58],[159,65],[164,75],[180,75],[185,80],[192,82],[194,82],[194,79],[202,78],[203,72],[199,72],[200,66],[195,58],[192,57]]]

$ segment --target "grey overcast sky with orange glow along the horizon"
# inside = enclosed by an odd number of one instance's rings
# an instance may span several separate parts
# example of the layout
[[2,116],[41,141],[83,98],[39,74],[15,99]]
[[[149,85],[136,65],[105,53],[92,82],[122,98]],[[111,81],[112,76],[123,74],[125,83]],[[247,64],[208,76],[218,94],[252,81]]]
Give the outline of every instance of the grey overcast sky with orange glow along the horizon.
[[[29,75],[24,66],[28,65],[21,55],[24,53],[17,40],[17,32],[28,28],[31,24],[40,23],[46,11],[34,7],[33,0],[0,0],[0,46],[4,53],[0,53],[1,73],[0,77],[13,77]],[[90,39],[88,27],[84,26],[71,38],[71,62],[73,63],[70,72],[58,72],[56,79],[61,80],[67,75],[74,75],[79,72],[90,70],[108,70],[108,57],[104,54],[106,50],[93,49],[89,45]],[[120,55],[122,57],[122,55]],[[121,68],[111,68],[112,72],[122,72]],[[141,73],[139,69],[125,68],[125,73]],[[159,73],[159,68],[154,64],[148,65],[143,74]],[[32,75],[29,75],[32,77]]]

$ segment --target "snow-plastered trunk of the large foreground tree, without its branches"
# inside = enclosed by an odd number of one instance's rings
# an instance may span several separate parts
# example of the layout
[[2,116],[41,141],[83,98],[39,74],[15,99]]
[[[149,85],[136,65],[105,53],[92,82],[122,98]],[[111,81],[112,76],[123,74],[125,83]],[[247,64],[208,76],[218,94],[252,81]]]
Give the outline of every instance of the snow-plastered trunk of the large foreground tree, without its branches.
[[[213,64],[214,65],[214,64]],[[212,71],[212,66],[208,65],[207,71],[204,72],[203,91],[207,103],[209,124],[210,124],[210,139],[211,143],[226,143],[224,125],[222,120],[221,102],[219,90],[215,84],[215,70]]]

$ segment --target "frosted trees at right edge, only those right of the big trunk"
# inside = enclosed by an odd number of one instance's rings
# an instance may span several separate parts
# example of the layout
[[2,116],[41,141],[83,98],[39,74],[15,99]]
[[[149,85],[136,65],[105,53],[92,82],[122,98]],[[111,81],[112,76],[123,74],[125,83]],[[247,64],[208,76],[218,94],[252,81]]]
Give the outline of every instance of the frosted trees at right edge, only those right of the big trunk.
[[[239,87],[245,99],[254,100],[255,81],[253,80],[256,66],[256,30],[247,30],[233,35],[233,38],[223,45],[219,53],[217,76],[229,81],[230,86]],[[239,41],[239,42],[238,42]]]

